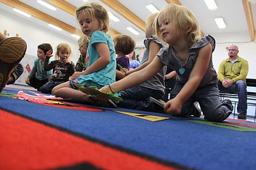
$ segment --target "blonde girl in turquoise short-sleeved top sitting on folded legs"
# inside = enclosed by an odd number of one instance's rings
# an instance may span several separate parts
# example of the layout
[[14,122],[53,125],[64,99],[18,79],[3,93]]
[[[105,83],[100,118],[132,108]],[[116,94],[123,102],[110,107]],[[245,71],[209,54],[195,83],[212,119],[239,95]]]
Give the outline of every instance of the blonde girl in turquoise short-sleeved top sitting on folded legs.
[[[109,29],[108,13],[102,5],[92,2],[76,9],[75,15],[82,32],[90,37],[88,67],[82,72],[75,72],[68,82],[56,86],[52,94],[75,102],[98,104],[91,95],[79,91],[75,84],[100,89],[116,80],[116,52],[113,40],[106,34]],[[110,101],[105,102],[104,106],[108,106],[108,103],[113,106]]]

